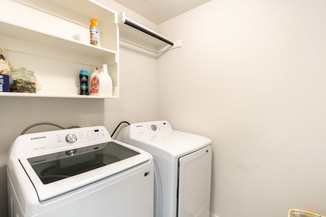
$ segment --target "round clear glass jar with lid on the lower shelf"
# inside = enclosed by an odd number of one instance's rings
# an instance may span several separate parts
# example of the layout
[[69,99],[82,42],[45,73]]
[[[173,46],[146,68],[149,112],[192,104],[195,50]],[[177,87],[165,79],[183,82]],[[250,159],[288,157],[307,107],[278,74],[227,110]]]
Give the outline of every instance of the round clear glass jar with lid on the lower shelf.
[[10,79],[11,92],[36,93],[36,77],[34,72],[25,68],[12,69]]

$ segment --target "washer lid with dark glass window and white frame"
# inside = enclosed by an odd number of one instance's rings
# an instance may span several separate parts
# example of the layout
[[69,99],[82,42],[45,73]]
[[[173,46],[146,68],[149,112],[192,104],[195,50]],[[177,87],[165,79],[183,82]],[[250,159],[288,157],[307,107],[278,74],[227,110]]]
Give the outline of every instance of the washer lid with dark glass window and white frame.
[[118,143],[109,141],[43,156],[21,157],[19,162],[39,200],[44,201],[151,160],[145,151]]

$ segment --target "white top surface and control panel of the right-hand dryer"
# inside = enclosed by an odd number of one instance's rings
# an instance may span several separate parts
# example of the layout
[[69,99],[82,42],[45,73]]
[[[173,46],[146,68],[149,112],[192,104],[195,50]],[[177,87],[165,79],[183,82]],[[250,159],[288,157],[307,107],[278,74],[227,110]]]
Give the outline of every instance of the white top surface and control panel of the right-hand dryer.
[[122,141],[171,162],[211,144],[206,137],[172,130],[166,120],[133,123],[125,129]]

